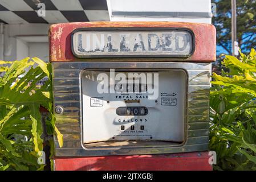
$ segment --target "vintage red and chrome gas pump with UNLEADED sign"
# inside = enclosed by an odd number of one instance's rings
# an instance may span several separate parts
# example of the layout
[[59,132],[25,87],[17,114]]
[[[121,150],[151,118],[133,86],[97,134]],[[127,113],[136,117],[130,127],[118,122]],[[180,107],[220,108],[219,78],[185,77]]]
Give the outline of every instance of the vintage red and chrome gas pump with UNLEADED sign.
[[211,24],[50,28],[55,170],[210,170]]

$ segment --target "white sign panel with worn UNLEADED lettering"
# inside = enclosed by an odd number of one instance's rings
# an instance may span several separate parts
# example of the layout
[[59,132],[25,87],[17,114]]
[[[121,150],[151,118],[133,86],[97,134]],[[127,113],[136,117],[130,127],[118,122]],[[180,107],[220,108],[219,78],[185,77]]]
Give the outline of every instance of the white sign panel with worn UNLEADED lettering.
[[72,51],[77,57],[189,57],[193,52],[193,36],[188,30],[76,30],[72,35]]

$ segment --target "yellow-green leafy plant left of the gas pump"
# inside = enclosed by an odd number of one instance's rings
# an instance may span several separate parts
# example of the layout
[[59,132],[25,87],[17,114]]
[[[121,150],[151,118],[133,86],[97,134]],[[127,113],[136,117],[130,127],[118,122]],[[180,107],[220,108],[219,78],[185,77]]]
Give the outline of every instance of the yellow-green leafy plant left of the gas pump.
[[[38,66],[35,66],[38,64]],[[40,106],[50,111],[50,125],[62,146],[52,112],[51,64],[33,57],[0,61],[0,170],[43,169],[38,164],[43,140]],[[25,71],[27,69],[27,72]],[[39,86],[38,82],[47,77]]]

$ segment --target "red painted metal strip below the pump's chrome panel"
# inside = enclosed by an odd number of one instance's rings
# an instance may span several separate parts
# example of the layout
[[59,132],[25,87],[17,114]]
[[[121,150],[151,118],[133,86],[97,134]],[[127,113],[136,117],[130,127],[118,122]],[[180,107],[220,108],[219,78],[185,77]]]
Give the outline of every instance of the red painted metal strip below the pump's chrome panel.
[[211,171],[208,152],[55,158],[56,171]]

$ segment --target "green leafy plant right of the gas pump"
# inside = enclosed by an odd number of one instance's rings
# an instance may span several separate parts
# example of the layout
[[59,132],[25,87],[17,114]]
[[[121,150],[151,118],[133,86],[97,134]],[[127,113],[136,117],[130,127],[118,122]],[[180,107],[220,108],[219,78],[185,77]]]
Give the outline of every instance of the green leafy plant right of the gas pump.
[[256,169],[256,52],[226,55],[229,72],[213,73],[210,92],[210,148],[216,169]]

